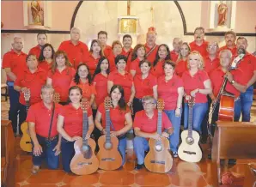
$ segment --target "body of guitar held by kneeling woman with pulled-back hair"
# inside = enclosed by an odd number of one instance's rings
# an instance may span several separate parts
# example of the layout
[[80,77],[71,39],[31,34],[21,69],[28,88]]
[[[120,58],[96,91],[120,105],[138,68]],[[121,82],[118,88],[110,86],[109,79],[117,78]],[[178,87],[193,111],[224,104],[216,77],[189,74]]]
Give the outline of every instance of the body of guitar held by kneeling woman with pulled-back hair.
[[82,154],[82,139],[77,140],[74,144],[76,154],[70,162],[70,169],[76,175],[88,175],[98,170],[99,160],[94,154],[96,143],[93,139],[88,139],[88,146],[91,149],[91,155],[86,159]]

